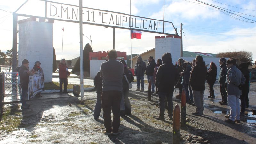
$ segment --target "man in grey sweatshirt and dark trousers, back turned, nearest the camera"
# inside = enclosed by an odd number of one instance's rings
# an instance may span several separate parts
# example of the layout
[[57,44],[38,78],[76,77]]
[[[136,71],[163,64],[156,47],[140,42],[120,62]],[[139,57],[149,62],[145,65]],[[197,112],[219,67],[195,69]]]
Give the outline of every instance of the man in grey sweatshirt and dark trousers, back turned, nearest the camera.
[[[104,126],[106,131],[104,134],[117,135],[120,126],[120,102],[122,92],[122,80],[124,73],[124,65],[122,62],[116,61],[117,52],[115,50],[108,51],[108,61],[103,62],[100,66],[100,77],[102,77],[102,95],[101,102],[104,112]],[[113,122],[111,124],[111,110],[113,112]]]

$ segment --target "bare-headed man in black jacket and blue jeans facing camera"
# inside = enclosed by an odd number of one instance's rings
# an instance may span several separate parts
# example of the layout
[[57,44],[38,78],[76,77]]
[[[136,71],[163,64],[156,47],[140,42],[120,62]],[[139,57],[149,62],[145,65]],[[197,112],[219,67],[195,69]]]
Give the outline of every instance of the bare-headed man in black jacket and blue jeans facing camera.
[[[155,60],[153,59],[152,56],[149,56],[148,57],[148,64],[147,64],[147,67],[146,67],[146,75],[147,75],[147,78],[148,78],[148,82],[151,79],[151,82],[152,82],[151,92],[152,93],[155,93],[155,85],[153,84],[153,82],[154,82],[153,73],[154,73],[155,67],[156,67]],[[148,91],[146,91],[146,92],[148,92]]]

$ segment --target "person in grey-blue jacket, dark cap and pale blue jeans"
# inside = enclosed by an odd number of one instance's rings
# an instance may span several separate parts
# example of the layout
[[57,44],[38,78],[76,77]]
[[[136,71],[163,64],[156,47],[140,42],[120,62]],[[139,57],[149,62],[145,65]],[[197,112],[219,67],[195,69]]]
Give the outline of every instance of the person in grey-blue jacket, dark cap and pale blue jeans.
[[236,60],[227,60],[227,93],[228,105],[230,107],[230,116],[225,122],[240,123],[240,106],[239,98],[241,95],[241,87],[245,83],[245,77],[242,72],[235,66]]

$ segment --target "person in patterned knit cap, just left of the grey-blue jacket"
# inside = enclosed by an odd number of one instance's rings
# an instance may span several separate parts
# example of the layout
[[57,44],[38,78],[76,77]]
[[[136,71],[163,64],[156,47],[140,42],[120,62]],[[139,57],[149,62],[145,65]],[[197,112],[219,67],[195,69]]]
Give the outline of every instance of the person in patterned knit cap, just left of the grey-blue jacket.
[[218,78],[218,82],[220,83],[220,94],[222,100],[219,101],[221,105],[227,105],[227,92],[225,90],[225,82],[226,82],[226,75],[227,75],[227,67],[226,67],[226,59],[220,58],[220,74]]

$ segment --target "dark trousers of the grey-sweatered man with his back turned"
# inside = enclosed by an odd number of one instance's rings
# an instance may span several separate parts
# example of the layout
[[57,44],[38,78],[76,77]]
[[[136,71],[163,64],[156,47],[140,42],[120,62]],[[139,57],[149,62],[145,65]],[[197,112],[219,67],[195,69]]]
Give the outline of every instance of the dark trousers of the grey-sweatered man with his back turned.
[[[101,102],[104,112],[104,126],[106,132],[118,132],[120,126],[120,102],[121,91],[102,91]],[[111,110],[113,112],[113,121],[111,124]]]

